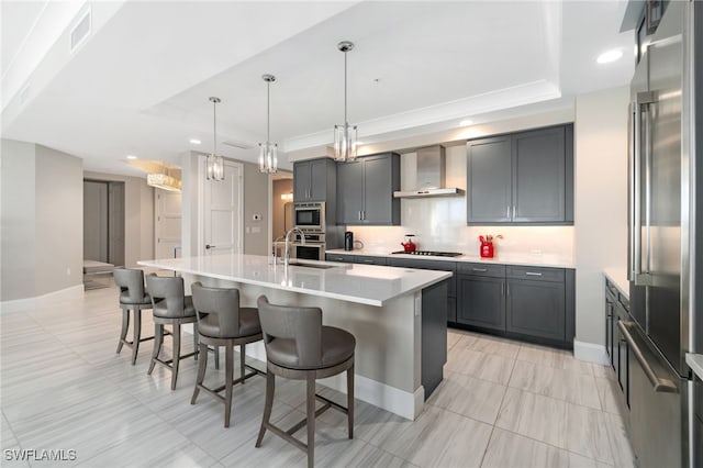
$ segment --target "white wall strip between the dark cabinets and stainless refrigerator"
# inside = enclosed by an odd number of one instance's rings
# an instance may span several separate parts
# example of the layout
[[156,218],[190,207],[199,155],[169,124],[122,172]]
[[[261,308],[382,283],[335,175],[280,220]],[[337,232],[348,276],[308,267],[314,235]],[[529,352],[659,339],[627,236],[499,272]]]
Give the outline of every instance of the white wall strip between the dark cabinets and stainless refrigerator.
[[628,87],[576,103],[576,339],[604,344],[603,268],[627,265]]

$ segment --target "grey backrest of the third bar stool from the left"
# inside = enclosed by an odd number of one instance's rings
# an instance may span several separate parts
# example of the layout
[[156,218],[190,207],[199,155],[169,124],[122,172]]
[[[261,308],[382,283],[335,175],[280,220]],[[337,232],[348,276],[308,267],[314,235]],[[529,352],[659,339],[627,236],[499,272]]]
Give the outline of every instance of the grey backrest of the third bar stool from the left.
[[220,337],[239,334],[239,290],[235,288],[210,288],[200,281],[190,287],[198,323],[209,314],[217,316]]

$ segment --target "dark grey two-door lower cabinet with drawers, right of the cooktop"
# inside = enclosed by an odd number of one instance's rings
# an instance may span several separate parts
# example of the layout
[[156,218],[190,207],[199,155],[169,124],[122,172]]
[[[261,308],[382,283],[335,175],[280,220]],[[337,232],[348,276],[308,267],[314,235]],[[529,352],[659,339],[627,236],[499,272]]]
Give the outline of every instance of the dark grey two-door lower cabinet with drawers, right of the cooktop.
[[459,263],[457,271],[457,323],[526,341],[573,346],[573,270]]

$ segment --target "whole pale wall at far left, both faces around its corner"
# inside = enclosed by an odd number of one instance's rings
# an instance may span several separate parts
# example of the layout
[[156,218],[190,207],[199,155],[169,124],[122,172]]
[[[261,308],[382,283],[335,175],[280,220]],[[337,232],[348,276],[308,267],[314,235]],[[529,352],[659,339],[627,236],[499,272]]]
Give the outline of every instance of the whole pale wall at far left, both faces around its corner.
[[2,301],[82,283],[82,161],[2,140]]

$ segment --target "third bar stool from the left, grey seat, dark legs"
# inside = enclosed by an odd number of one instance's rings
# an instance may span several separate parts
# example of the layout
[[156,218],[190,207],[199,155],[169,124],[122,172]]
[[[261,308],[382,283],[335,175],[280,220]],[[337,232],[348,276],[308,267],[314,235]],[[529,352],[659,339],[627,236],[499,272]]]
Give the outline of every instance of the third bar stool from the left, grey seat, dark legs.
[[[246,379],[255,376],[258,371],[246,365],[245,349],[247,343],[261,339],[261,324],[256,308],[239,307],[239,290],[208,288],[200,282],[191,286],[193,293],[193,305],[198,316],[198,333],[200,341],[200,363],[198,364],[198,380],[190,404],[196,404],[200,390],[213,395],[224,403],[224,426],[230,427],[230,413],[232,412],[232,388],[235,383],[244,383]],[[211,389],[202,382],[205,379],[205,368],[208,366],[208,345],[217,349],[219,346],[225,348],[225,381],[223,386]],[[234,346],[239,346],[239,369],[241,377],[233,380]],[[245,367],[253,372],[245,374]],[[224,397],[220,392],[224,390]]]

